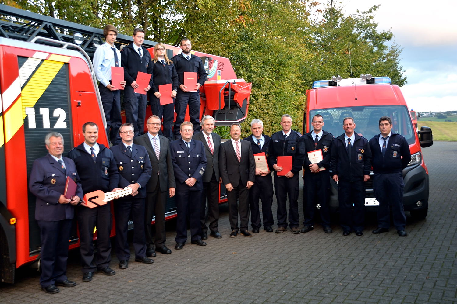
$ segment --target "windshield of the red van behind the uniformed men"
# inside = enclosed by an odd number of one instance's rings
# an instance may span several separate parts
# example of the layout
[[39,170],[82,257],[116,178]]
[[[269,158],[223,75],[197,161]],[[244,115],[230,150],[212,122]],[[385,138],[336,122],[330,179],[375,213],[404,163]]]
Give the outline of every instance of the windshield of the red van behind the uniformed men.
[[312,130],[311,120],[316,114],[324,118],[324,130],[337,137],[344,133],[343,119],[354,118],[356,133],[370,140],[379,134],[379,118],[389,116],[392,119],[392,131],[404,136],[408,144],[415,140],[415,130],[411,124],[409,110],[405,106],[361,106],[347,108],[328,108],[311,110],[308,117],[308,130]]

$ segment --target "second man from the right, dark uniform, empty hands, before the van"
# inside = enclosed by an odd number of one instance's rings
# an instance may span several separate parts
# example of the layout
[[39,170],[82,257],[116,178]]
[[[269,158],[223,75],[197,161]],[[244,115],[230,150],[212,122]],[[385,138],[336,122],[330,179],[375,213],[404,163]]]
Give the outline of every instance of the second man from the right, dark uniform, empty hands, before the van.
[[[365,221],[365,186],[370,179],[371,150],[368,140],[354,132],[356,124],[352,117],[343,119],[341,134],[332,143],[330,169],[333,180],[338,183],[340,225],[343,235],[352,230],[357,236],[363,234]],[[354,206],[354,207],[352,207]]]

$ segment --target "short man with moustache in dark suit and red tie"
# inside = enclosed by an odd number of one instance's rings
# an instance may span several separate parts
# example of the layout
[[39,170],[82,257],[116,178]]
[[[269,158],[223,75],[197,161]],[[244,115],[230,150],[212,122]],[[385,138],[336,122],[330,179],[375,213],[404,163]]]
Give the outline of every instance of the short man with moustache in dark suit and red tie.
[[[219,171],[227,189],[228,214],[232,233],[236,237],[238,231],[245,237],[252,237],[248,231],[249,224],[249,189],[254,185],[255,160],[251,144],[240,140],[241,126],[233,123],[230,126],[231,139],[221,144],[219,153]],[[237,206],[239,201],[239,208]],[[239,211],[239,227],[238,227]]]

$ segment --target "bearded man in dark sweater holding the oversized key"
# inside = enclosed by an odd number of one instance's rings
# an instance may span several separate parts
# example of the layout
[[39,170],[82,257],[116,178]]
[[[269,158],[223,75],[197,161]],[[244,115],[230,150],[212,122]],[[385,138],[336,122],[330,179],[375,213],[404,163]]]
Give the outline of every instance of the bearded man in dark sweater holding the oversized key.
[[[84,142],[72,149],[68,157],[74,161],[84,193],[96,190],[117,190],[119,175],[116,161],[110,149],[98,144],[98,126],[93,122],[83,124]],[[88,208],[78,206],[78,227],[83,282],[92,280],[96,270],[114,275],[111,262],[111,204]],[[97,252],[94,250],[94,228],[97,227]]]

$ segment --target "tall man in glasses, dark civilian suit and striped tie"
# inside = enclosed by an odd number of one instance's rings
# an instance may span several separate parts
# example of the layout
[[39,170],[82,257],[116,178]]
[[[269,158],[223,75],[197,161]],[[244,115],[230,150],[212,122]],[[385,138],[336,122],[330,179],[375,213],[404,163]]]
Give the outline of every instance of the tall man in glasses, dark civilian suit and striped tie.
[[[147,122],[148,133],[136,137],[133,142],[146,148],[152,165],[152,174],[146,184],[146,255],[155,257],[155,251],[170,254],[165,246],[165,204],[167,197],[175,196],[175,173],[171,162],[170,141],[159,135],[161,121],[159,116],[152,115]],[[151,221],[155,215],[155,241]],[[155,251],[154,251],[155,244]]]

